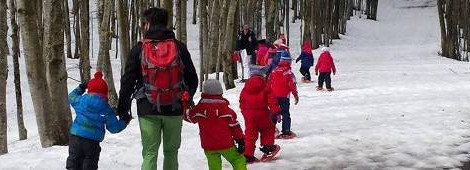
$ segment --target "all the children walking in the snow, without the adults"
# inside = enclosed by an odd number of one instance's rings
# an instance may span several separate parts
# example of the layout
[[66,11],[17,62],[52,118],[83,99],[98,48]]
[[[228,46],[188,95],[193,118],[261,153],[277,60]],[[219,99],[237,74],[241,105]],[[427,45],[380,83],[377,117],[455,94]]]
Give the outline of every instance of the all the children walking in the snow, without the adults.
[[[229,107],[230,102],[223,97],[223,89],[218,80],[207,80],[199,103],[183,115],[185,121],[197,123],[200,130],[201,146],[208,160],[210,170],[222,168],[221,156],[227,159],[235,170],[247,169],[247,163],[270,161],[279,153],[280,146],[275,138],[292,139],[290,95],[294,103],[299,102],[295,76],[291,71],[292,58],[285,37],[280,37],[270,47],[260,46],[257,64],[261,69],[251,70],[250,78],[240,94],[240,110],[245,120],[243,133],[237,114]],[[311,82],[310,67],[313,54],[310,42],[302,46],[302,53],[296,62],[301,61],[302,81]],[[326,83],[331,87],[330,74],[336,74],[328,48],[322,49],[315,66],[318,75],[317,90]],[[112,133],[123,130],[129,120],[118,120],[107,102],[107,84],[97,72],[89,83],[83,83],[69,95],[69,101],[77,113],[71,127],[71,144],[67,169],[96,169],[99,160],[99,142],[103,140],[105,128]],[[83,95],[88,89],[88,93]],[[282,131],[276,134],[276,124],[282,122]],[[279,133],[279,132],[278,132]],[[256,141],[260,136],[260,150],[264,155],[255,157]]]

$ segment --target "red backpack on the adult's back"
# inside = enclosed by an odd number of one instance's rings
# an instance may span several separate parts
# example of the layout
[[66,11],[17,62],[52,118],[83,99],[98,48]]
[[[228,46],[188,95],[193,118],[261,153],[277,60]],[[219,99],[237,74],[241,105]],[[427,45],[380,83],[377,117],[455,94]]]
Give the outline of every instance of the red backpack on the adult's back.
[[141,64],[145,95],[159,112],[161,105],[173,106],[181,101],[186,89],[184,65],[174,39],[143,40]]

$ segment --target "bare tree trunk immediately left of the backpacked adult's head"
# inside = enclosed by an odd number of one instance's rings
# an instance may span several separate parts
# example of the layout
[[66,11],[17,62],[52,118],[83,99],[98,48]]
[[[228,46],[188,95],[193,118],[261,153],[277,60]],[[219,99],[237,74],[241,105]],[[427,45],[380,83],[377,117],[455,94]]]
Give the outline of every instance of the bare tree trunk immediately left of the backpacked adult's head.
[[121,52],[121,74],[124,73],[127,59],[129,58],[129,9],[127,0],[117,0],[118,30],[119,30],[119,50]]

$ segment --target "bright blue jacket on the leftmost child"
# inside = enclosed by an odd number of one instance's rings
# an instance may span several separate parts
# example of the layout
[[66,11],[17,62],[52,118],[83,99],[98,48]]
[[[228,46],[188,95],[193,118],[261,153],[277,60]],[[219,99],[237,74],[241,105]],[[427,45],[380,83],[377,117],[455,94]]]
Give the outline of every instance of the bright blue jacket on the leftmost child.
[[126,123],[116,118],[106,99],[93,93],[82,96],[83,93],[85,91],[78,87],[69,94],[69,103],[76,113],[70,134],[101,142],[105,126],[111,133],[119,133],[126,128]]

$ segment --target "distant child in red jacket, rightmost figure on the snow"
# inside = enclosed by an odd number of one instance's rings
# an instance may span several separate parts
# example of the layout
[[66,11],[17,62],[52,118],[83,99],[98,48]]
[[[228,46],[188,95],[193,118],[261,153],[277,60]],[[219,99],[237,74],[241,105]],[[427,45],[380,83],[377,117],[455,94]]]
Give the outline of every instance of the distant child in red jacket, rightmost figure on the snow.
[[[318,72],[320,72],[320,75],[318,75]],[[333,87],[331,87],[331,72],[333,72],[333,75],[336,74],[335,63],[330,54],[330,50],[327,47],[323,47],[317,65],[315,66],[315,75],[318,75],[318,91],[323,90],[323,82],[326,83],[326,89],[328,91],[334,90]]]

